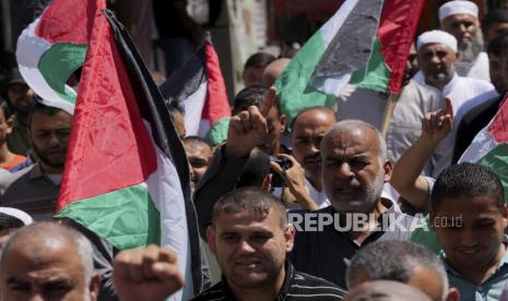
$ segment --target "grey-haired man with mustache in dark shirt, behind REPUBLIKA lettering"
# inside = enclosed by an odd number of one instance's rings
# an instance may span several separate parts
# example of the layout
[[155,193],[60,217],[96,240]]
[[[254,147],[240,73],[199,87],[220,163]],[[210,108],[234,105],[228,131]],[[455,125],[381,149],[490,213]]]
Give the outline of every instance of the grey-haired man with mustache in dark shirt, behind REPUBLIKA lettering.
[[[392,164],[385,140],[371,124],[336,122],[320,148],[322,186],[331,206],[290,215],[297,230],[290,260],[296,269],[346,288],[347,263],[356,252],[378,240],[407,240],[411,225],[418,220],[381,197]],[[326,225],[330,217],[333,224]]]

